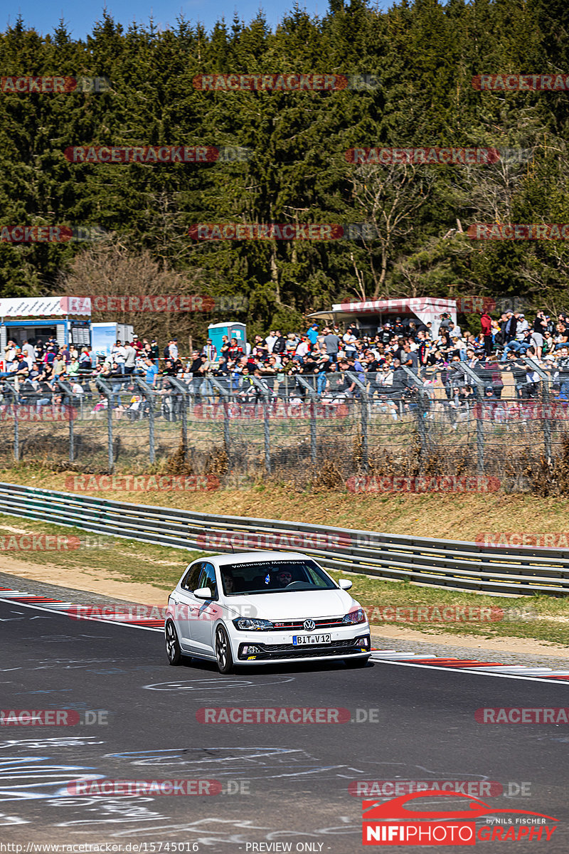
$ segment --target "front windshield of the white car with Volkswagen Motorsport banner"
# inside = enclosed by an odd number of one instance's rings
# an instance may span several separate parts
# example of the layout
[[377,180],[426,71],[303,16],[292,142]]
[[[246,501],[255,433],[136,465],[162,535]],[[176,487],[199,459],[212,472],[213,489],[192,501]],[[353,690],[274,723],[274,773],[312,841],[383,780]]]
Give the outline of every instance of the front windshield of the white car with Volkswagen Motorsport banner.
[[219,568],[226,596],[335,589],[314,560],[264,560]]

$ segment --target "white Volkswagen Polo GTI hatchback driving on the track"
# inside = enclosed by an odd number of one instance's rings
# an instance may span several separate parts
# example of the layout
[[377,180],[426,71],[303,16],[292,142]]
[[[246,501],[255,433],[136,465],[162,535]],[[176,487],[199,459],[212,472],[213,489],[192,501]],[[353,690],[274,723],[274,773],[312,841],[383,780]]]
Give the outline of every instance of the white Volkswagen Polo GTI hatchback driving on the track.
[[166,653],[241,664],[343,659],[363,667],[370,649],[365,612],[305,554],[247,552],[189,564],[168,598]]

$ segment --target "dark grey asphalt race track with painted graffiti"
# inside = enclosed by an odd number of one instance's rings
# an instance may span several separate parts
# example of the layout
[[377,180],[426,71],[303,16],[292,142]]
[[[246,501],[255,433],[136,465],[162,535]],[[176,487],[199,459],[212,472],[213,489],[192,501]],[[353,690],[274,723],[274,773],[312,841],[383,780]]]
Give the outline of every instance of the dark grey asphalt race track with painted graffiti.
[[[361,798],[348,787],[398,778],[497,781],[506,793],[524,782],[524,797],[481,799],[554,816],[552,838],[477,841],[477,848],[569,851],[569,724],[474,719],[480,706],[569,705],[567,683],[380,663],[364,670],[322,664],[219,676],[208,664],[170,667],[156,631],[6,602],[0,602],[0,621],[0,708],[100,713],[90,715],[100,721],[92,724],[0,728],[3,844],[23,845],[22,851],[33,851],[28,843],[86,842],[123,846],[114,851],[128,851],[129,843],[145,843],[141,851],[173,851],[165,843],[174,842],[185,843],[185,851],[194,843],[195,850],[212,852],[374,851],[378,847],[362,845]],[[196,719],[200,708],[221,706],[340,707],[361,722]],[[222,793],[67,793],[69,784],[85,779],[207,779],[220,781]],[[448,808],[450,799],[429,799],[428,809]],[[456,805],[467,809],[466,798]],[[477,827],[485,823],[477,819]]]

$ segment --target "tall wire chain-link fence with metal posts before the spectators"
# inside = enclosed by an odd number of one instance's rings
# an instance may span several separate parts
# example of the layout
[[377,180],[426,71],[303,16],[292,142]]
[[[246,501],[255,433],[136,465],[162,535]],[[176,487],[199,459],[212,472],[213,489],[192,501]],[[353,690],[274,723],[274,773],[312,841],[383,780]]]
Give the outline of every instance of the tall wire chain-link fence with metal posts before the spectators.
[[525,358],[438,370],[3,380],[0,459],[79,471],[281,477],[487,476],[565,494],[569,368]]

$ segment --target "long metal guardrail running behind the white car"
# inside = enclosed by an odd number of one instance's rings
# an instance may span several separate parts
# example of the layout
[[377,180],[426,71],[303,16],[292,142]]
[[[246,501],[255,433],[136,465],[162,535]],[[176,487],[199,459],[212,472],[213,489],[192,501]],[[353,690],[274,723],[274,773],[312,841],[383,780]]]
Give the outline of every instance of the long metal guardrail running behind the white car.
[[0,483],[0,513],[210,553],[300,551],[331,570],[429,587],[498,596],[569,594],[569,553],[556,549],[480,547],[276,519],[212,516],[16,483]]

